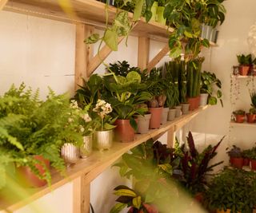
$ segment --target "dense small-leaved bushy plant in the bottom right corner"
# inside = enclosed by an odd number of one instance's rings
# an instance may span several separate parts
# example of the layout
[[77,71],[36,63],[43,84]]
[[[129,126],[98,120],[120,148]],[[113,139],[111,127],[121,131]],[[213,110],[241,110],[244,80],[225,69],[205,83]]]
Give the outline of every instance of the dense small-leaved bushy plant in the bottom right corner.
[[231,213],[252,212],[255,206],[256,174],[225,168],[209,185],[207,200],[211,209]]

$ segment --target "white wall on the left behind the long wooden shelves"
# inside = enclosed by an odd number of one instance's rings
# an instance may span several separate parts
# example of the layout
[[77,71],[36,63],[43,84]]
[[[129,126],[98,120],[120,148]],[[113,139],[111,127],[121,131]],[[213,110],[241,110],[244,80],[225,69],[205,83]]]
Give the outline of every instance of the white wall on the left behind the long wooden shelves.
[[[57,93],[74,94],[74,25],[1,11],[0,32],[0,95],[11,84],[19,85],[22,81],[33,89],[40,88],[42,98],[46,97],[47,86]],[[162,46],[162,43],[150,42],[150,59]],[[136,66],[137,55],[138,38],[130,37],[128,47],[122,41],[119,51],[110,53],[106,63],[126,60]],[[101,65],[96,72],[104,73],[104,67]],[[95,212],[110,211],[116,199],[113,189],[121,183],[129,184],[120,178],[116,168],[106,169],[91,183],[91,203]],[[72,187],[73,184],[68,183],[15,212],[70,213]]]

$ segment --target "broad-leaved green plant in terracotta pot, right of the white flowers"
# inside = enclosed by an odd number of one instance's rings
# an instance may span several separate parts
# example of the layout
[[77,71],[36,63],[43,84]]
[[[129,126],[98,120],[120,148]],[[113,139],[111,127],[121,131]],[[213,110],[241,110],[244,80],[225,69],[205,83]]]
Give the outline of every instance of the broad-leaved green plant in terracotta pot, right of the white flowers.
[[131,71],[126,77],[117,76],[109,73],[104,76],[104,85],[106,91],[103,93],[103,99],[107,100],[113,108],[113,117],[117,117],[114,125],[116,140],[130,142],[134,140],[137,123],[134,120],[135,115],[144,115],[146,108],[139,105],[149,101],[150,93],[146,92],[147,85],[141,83],[141,76]]

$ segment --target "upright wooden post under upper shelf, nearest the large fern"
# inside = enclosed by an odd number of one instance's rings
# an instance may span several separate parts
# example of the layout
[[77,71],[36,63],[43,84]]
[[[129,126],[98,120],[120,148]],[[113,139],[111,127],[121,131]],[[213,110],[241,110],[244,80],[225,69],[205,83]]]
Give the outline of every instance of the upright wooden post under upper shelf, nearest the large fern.
[[94,49],[93,45],[86,45],[84,40],[90,36],[94,31],[93,26],[86,26],[84,24],[78,24],[76,26],[76,41],[75,41],[75,86],[74,89],[78,89],[78,85],[82,85],[82,78],[88,78],[88,65],[90,59],[93,57]]

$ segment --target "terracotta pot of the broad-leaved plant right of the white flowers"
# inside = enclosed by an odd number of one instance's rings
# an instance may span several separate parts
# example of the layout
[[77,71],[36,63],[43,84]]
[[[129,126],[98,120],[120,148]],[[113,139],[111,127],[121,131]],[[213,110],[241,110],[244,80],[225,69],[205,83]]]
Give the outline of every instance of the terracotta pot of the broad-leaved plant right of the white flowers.
[[130,120],[118,119],[114,122],[114,138],[120,142],[130,142],[134,140],[135,131],[130,125]]

